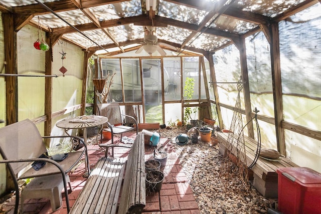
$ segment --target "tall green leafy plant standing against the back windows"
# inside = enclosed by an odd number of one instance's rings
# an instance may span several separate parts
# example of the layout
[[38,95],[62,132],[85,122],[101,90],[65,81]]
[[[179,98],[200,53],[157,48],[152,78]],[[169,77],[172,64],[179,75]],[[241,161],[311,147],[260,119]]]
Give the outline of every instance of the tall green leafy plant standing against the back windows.
[[[184,97],[187,100],[191,100],[193,98],[193,93],[194,93],[194,86],[195,86],[195,79],[192,77],[187,77],[185,80],[185,86],[184,86]],[[190,104],[186,102],[185,104]],[[192,114],[194,113],[194,119],[196,116],[197,108],[191,108],[191,107],[185,107],[184,109],[184,124],[188,124],[189,120],[192,119]]]

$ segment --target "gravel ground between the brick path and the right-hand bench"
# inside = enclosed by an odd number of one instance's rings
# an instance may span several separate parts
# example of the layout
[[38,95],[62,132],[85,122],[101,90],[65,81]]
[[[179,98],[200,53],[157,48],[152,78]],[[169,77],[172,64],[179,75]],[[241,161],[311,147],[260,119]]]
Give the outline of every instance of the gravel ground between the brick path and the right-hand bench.
[[235,175],[229,176],[227,185],[220,175],[224,158],[219,154],[219,145],[210,146],[201,140],[177,145],[174,140],[180,133],[186,133],[184,128],[159,129],[157,132],[163,138],[172,139],[170,147],[175,147],[201,213],[267,213],[268,208],[275,208],[275,200],[264,198],[253,186],[245,190]]

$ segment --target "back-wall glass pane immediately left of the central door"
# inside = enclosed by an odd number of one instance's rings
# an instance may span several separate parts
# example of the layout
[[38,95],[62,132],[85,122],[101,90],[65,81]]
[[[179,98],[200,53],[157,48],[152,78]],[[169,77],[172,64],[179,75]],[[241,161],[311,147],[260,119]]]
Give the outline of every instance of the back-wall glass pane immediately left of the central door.
[[125,102],[141,102],[139,59],[122,59]]

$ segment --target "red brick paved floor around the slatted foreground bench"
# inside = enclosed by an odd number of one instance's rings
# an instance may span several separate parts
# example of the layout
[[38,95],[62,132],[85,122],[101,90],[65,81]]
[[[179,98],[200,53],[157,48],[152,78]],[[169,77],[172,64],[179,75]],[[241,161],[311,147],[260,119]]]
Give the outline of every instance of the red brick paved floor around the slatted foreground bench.
[[[134,138],[135,135],[128,136]],[[161,139],[161,143],[167,144],[167,139]],[[166,146],[165,146],[166,147]],[[150,154],[152,149],[145,147],[145,154]],[[126,156],[128,149],[115,148],[114,156]],[[104,152],[99,150],[97,145],[88,145],[88,157],[90,168],[94,168],[100,157],[104,156]],[[147,157],[150,155],[146,155]],[[169,153],[165,167],[162,167],[165,179],[163,180],[162,189],[159,192],[146,194],[146,206],[143,214],[199,214],[200,210],[195,201],[192,189],[187,182],[186,174],[182,170],[182,166],[175,151]],[[84,160],[69,175],[73,190],[68,194],[70,207],[74,204],[82,187],[85,185],[87,178],[82,175],[85,173]],[[62,208],[52,212],[50,200],[46,198],[29,199],[24,202],[24,213],[67,213],[67,206],[64,191],[62,193]],[[5,208],[7,213],[14,213],[15,200],[12,200]]]

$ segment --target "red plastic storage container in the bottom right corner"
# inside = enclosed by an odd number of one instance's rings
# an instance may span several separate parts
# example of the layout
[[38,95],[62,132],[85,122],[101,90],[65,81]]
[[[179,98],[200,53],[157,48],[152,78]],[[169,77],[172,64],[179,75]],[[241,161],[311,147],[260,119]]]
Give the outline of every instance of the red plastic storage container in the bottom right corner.
[[278,209],[284,214],[321,213],[321,174],[307,167],[278,168]]

